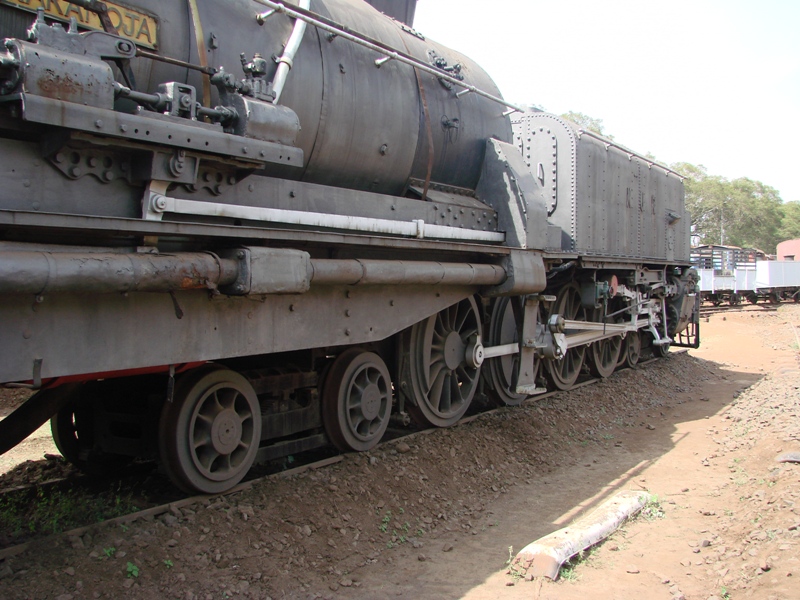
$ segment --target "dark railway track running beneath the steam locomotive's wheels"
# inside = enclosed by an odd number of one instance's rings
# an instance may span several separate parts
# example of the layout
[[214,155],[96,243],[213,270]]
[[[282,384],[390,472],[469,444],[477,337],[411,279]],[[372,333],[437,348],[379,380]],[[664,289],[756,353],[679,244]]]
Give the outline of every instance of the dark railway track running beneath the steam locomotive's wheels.
[[[677,350],[674,353],[682,353],[685,350]],[[638,366],[646,367],[651,363],[657,361],[657,358],[651,358],[639,363]],[[582,387],[593,385],[601,381],[600,378],[587,377],[574,386],[572,386],[566,393],[570,393]],[[523,402],[523,404],[530,404],[538,402],[545,398],[552,397],[560,390],[546,392],[544,394],[534,396]],[[487,408],[489,402],[481,403],[482,409],[479,409],[472,414],[468,414],[458,421],[458,425],[463,425],[474,421],[480,417],[496,413],[501,410],[507,410],[508,407]],[[409,441],[416,436],[426,435],[437,431],[439,428],[413,428],[413,427],[390,427],[387,431],[387,436],[384,441],[379,444],[380,446],[394,445],[402,441]],[[52,457],[51,457],[52,458]],[[230,496],[249,489],[259,482],[276,477],[290,477],[302,473],[303,471],[324,468],[328,465],[335,464],[343,460],[344,455],[338,453],[333,448],[326,448],[323,450],[309,451],[295,457],[291,463],[288,461],[275,463],[268,463],[266,465],[257,465],[254,467],[249,477],[238,484],[237,486],[227,490],[226,492],[213,495],[193,495],[186,496],[172,486],[163,474],[158,473],[155,463],[135,463],[124,472],[117,474],[115,477],[91,477],[84,474],[75,474],[67,477],[57,478],[48,481],[34,482],[29,485],[12,486],[5,489],[0,489],[0,507],[8,507],[11,505],[9,499],[12,497],[20,498],[27,497],[29,502],[44,502],[47,504],[48,498],[55,498],[58,494],[63,494],[69,491],[71,494],[86,495],[96,497],[98,494],[103,494],[108,490],[112,490],[117,497],[124,497],[128,491],[136,490],[137,498],[143,499],[137,505],[139,510],[132,512],[125,512],[124,514],[116,515],[112,518],[107,518],[99,522],[88,523],[78,527],[72,527],[68,530],[59,531],[52,534],[45,533],[44,535],[36,534],[24,539],[21,543],[11,543],[7,538],[7,545],[5,548],[0,548],[0,560],[15,556],[25,552],[31,547],[33,543],[39,543],[43,539],[55,536],[72,537],[81,536],[92,528],[98,526],[118,526],[136,521],[142,518],[157,517],[167,512],[175,512],[177,509],[191,506],[193,504],[204,502],[213,498]],[[287,468],[289,464],[295,466]],[[51,503],[54,504],[54,503]],[[124,505],[123,505],[124,506]]]

